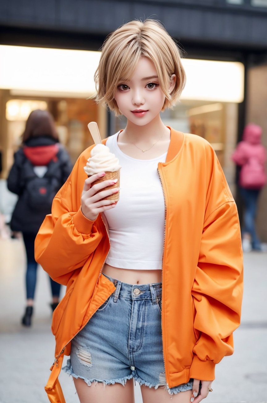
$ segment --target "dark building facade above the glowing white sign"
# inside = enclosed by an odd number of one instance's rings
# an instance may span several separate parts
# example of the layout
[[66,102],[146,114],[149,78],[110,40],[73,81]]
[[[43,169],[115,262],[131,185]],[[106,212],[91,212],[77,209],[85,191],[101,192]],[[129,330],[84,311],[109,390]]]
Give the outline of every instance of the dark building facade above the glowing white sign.
[[0,41],[98,50],[119,25],[144,18],[164,23],[190,56],[266,57],[265,0],[10,0],[0,3]]

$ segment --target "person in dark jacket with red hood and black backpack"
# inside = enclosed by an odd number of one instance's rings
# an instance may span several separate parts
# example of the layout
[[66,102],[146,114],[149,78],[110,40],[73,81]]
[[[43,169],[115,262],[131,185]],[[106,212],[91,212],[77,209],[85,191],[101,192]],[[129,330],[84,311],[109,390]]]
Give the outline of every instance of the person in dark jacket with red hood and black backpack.
[[[54,196],[66,182],[72,164],[59,143],[52,115],[47,110],[33,110],[27,119],[22,145],[14,154],[14,164],[7,179],[8,189],[19,198],[10,221],[12,231],[21,231],[27,256],[27,306],[22,318],[31,326],[36,285],[37,262],[34,241],[45,216],[51,213]],[[50,278],[51,308],[59,303],[60,284]]]

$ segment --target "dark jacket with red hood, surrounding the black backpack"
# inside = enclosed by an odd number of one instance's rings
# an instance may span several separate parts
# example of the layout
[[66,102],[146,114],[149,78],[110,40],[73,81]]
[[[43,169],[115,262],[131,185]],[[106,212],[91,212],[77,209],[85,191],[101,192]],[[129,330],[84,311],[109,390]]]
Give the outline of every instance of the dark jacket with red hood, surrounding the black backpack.
[[[53,161],[53,164],[51,163]],[[56,162],[56,164],[54,164]],[[7,187],[19,196],[14,208],[10,228],[12,231],[37,234],[48,211],[33,210],[24,197],[25,172],[30,165],[52,167],[58,179],[58,191],[72,170],[70,158],[64,147],[50,136],[32,137],[14,154],[14,164],[9,172]]]

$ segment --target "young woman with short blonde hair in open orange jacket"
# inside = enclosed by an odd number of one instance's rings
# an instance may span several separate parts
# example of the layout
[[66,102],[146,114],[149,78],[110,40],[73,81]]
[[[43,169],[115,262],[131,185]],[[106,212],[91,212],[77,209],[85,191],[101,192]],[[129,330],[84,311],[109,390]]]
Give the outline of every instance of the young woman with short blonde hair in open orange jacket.
[[[164,126],[185,83],[179,50],[156,21],[132,21],[103,45],[97,101],[124,114],[104,143],[120,189],[77,160],[36,238],[36,259],[66,295],[53,317],[57,380],[63,355],[81,403],[199,403],[233,353],[240,321],[242,248],[234,199],[204,139]],[[105,200],[120,191],[117,204]],[[195,399],[195,400],[194,400]]]

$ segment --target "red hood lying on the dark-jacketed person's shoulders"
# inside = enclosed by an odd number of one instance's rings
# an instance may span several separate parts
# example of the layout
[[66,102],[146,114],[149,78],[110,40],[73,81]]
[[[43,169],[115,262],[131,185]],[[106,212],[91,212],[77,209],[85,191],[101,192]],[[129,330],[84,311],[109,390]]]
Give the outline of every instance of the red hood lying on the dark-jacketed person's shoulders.
[[51,160],[57,161],[58,144],[40,145],[39,147],[23,147],[23,152],[33,165],[48,165]]

